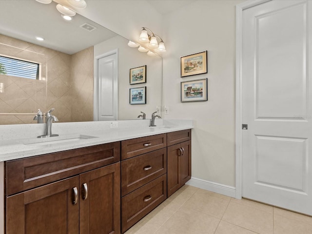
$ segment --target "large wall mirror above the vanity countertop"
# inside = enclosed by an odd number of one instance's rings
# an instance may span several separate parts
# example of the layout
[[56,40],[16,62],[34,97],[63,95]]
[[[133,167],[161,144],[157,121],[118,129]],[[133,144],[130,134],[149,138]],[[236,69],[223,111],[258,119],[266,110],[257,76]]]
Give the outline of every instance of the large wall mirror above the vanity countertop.
[[[94,56],[113,50],[118,53],[117,119],[137,119],[141,111],[149,117],[161,107],[161,57],[138,52],[127,39],[78,14],[65,21],[56,5],[0,1],[0,124],[36,123],[38,109],[52,108],[59,122],[93,121]],[[19,60],[39,64],[37,76],[24,78],[4,65]],[[130,69],[145,65],[146,82],[130,85]],[[139,87],[146,87],[146,104],[130,104],[130,89]]]

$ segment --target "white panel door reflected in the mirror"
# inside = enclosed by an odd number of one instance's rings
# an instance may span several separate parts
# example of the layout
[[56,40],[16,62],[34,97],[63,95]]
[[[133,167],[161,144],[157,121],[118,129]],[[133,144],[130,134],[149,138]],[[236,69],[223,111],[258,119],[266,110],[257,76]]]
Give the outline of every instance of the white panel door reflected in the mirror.
[[117,51],[96,58],[95,117],[99,121],[118,119]]

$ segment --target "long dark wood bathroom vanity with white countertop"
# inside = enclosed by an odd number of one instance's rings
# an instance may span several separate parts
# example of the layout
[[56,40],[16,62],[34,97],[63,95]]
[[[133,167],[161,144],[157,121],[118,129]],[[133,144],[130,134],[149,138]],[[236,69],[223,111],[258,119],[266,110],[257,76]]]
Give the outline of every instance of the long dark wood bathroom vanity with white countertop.
[[[191,178],[192,121],[170,121],[159,120],[155,128],[142,120],[132,122],[134,127],[118,121],[118,129],[93,122],[86,135],[78,135],[90,138],[53,140],[59,143],[1,140],[5,191],[1,230],[126,232]],[[65,131],[59,125],[59,131]],[[3,145],[11,142],[12,148],[13,141],[19,142],[15,155]],[[31,149],[25,151],[23,142]]]

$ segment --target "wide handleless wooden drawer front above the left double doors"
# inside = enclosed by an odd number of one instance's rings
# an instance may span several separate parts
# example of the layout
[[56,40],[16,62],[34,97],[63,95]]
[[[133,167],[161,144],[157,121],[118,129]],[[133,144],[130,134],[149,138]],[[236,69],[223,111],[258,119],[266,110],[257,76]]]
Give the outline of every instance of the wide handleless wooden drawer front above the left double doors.
[[6,195],[120,161],[120,141],[6,162]]

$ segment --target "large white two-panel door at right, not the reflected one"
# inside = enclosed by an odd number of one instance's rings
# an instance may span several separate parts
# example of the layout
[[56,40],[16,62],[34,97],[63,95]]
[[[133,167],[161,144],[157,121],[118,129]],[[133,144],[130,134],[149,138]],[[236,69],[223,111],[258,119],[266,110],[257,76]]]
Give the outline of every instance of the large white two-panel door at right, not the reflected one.
[[242,195],[312,215],[312,1],[243,10]]

